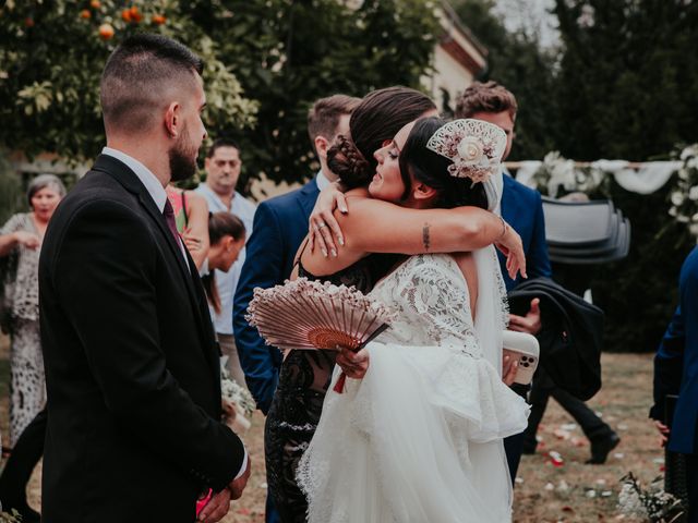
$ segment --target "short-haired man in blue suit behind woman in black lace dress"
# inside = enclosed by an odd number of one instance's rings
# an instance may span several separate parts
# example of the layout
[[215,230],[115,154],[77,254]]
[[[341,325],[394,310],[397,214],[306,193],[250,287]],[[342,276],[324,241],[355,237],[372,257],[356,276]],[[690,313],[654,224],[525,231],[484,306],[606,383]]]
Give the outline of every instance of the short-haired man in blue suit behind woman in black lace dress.
[[[301,188],[263,202],[254,215],[236,291],[232,325],[248,388],[264,414],[269,410],[278,384],[281,352],[265,344],[256,328],[244,319],[248,305],[255,288],[284,283],[291,275],[296,253],[308,234],[315,199],[320,191],[337,178],[327,168],[327,149],[337,135],[349,135],[349,117],[359,101],[334,95],[314,104],[308,117],[308,132],[320,160],[320,172]],[[266,521],[278,521],[270,510],[270,496],[267,496]]]

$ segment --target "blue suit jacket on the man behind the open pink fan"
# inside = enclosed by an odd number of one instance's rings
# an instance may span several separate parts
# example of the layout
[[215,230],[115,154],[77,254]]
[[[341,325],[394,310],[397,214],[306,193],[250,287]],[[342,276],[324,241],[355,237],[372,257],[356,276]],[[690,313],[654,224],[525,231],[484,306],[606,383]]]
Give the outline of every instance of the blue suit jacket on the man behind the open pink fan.
[[264,414],[269,410],[278,384],[281,352],[266,345],[244,316],[255,287],[268,289],[284,283],[290,276],[318,194],[317,182],[311,180],[297,191],[260,204],[246,244],[232,307],[232,327],[248,388]]

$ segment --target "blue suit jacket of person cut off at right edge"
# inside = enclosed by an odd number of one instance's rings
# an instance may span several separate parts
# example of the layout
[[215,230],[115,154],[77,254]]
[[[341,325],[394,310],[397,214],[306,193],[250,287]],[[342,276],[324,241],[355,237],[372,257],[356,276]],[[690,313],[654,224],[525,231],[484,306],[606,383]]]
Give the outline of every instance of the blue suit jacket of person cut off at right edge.
[[650,416],[664,422],[664,398],[678,394],[669,450],[698,453],[698,247],[678,278],[678,307],[654,356],[654,406]]

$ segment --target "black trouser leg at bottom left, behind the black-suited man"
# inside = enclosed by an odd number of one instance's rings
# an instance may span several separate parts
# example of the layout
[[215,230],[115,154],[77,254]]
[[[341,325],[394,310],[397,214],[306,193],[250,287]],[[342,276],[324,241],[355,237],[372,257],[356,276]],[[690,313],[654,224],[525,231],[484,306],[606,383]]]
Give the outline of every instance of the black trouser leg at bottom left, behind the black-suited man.
[[44,454],[47,424],[46,408],[22,431],[0,476],[0,501],[3,510],[26,506],[26,484]]

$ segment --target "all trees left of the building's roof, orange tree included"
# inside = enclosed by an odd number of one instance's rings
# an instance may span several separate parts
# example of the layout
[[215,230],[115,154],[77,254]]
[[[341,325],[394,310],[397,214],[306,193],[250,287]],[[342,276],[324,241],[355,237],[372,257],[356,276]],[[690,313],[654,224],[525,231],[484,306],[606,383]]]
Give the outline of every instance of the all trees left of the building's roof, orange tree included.
[[93,157],[104,143],[101,68],[124,35],[155,31],[206,60],[209,134],[241,142],[245,174],[301,181],[316,167],[305,132],[311,104],[419,87],[440,31],[434,8],[429,0],[10,0],[0,11],[0,143]]

